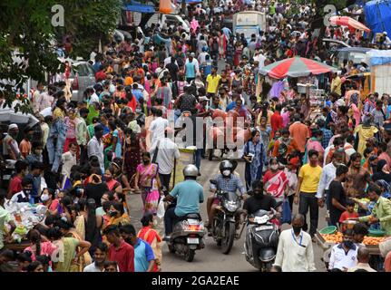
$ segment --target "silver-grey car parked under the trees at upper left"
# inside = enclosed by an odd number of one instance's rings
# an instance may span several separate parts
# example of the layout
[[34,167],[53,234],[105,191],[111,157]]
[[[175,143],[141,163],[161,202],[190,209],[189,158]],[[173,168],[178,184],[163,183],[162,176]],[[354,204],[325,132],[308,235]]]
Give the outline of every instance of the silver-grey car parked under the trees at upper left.
[[87,62],[76,62],[72,64],[72,72],[69,77],[71,81],[73,102],[83,101],[83,92],[88,87],[92,87],[95,82],[93,65]]

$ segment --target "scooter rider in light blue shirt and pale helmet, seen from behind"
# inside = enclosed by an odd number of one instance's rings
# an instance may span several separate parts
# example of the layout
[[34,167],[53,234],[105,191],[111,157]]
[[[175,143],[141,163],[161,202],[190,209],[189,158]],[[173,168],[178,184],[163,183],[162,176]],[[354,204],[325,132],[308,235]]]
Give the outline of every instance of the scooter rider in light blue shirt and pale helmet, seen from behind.
[[165,237],[163,240],[170,240],[172,227],[176,220],[188,214],[200,213],[200,203],[203,202],[203,188],[197,183],[199,171],[193,164],[186,165],[183,169],[184,181],[178,183],[163,199],[172,201],[177,198],[176,207],[168,208],[164,214]]

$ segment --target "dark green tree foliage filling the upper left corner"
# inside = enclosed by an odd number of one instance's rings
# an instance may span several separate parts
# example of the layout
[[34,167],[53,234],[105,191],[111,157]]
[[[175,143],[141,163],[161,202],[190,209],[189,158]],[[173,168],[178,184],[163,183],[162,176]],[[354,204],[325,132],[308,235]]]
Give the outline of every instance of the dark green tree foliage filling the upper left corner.
[[[64,27],[52,25],[52,7],[64,6]],[[6,104],[24,93],[30,78],[44,82],[46,74],[64,69],[55,50],[70,36],[71,57],[87,58],[116,27],[121,0],[2,0],[0,1],[0,94]],[[28,100],[16,108],[30,111]]]

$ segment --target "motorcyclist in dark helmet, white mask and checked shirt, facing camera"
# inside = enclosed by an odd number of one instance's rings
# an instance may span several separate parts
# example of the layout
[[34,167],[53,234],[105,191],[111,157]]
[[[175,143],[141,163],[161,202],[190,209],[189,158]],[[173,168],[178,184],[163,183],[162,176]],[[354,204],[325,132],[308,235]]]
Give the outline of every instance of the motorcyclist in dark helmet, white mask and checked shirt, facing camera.
[[[233,170],[234,170],[234,166],[232,162],[230,162],[229,160],[221,161],[220,174],[218,174],[215,177],[215,180],[217,181],[217,187],[222,191],[226,191],[226,192],[236,192],[237,190],[239,190],[240,195],[243,197],[243,195],[246,192],[246,189],[244,188],[240,178],[237,175],[233,174]],[[207,202],[207,210],[208,210],[208,218],[209,218],[209,222],[207,225],[208,230],[211,229],[216,208],[220,204],[220,199],[215,196],[217,187],[214,184],[210,184],[210,191],[212,192],[212,195],[208,198],[208,202]],[[237,228],[238,226],[239,223],[237,224]]]

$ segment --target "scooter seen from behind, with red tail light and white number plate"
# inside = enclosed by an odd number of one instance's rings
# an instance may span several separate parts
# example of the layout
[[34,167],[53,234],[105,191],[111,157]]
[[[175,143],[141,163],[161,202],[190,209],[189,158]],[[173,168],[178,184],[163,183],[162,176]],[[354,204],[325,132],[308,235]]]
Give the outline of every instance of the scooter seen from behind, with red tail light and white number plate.
[[[169,208],[175,207],[175,205],[176,202],[173,201]],[[205,247],[204,235],[205,227],[200,214],[188,214],[176,221],[167,246],[170,253],[178,253],[184,256],[187,262],[191,262],[194,259],[195,251]]]

